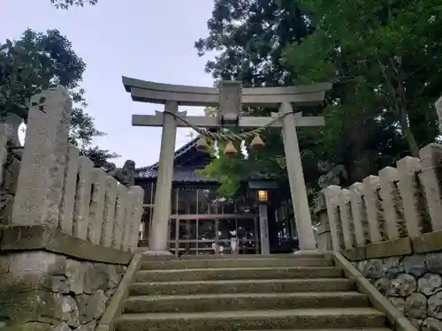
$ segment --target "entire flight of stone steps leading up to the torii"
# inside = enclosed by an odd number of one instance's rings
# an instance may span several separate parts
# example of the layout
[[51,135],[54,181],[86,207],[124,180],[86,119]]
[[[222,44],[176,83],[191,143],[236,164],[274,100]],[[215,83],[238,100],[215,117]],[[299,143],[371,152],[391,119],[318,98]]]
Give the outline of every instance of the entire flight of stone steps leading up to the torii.
[[318,254],[143,260],[116,320],[117,331],[389,331],[385,325],[385,314]]

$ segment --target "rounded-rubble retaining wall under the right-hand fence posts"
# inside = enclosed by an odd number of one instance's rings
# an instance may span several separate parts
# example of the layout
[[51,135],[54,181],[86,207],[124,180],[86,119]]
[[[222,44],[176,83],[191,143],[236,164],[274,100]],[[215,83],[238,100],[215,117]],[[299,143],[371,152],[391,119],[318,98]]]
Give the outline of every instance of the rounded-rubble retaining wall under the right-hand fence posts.
[[415,327],[442,330],[442,252],[354,261]]

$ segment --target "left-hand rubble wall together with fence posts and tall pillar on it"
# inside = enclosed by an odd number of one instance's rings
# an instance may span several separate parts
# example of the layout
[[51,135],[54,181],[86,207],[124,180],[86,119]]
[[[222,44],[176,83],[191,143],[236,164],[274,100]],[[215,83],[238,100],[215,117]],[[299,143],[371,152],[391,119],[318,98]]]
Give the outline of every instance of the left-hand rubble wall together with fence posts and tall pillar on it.
[[68,144],[71,112],[65,87],[33,97],[13,171],[0,124],[0,329],[94,330],[137,247],[144,192]]

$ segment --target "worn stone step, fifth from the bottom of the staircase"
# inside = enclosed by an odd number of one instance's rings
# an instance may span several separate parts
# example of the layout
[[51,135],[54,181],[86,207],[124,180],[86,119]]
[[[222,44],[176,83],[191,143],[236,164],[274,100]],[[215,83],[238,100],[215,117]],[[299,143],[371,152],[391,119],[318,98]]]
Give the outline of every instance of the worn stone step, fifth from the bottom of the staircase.
[[233,267],[331,267],[332,260],[326,259],[210,259],[169,260],[141,263],[141,270],[171,270]]

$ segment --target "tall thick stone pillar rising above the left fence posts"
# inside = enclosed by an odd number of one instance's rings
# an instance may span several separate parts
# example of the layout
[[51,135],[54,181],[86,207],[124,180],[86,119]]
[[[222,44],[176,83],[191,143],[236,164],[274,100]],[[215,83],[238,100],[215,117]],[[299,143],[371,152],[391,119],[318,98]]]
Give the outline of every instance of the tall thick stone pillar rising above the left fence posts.
[[11,223],[57,227],[72,100],[65,87],[57,86],[31,102]]

